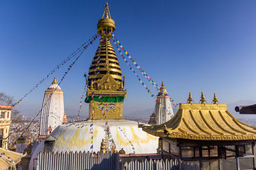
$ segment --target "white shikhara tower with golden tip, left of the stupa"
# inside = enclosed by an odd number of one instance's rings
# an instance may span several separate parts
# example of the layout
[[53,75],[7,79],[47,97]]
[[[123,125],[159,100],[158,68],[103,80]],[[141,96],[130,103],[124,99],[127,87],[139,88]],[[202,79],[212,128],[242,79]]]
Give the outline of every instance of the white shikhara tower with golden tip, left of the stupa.
[[55,77],[51,86],[45,90],[42,107],[39,136],[44,138],[58,127],[58,125],[61,125],[63,121],[63,91],[58,85]]

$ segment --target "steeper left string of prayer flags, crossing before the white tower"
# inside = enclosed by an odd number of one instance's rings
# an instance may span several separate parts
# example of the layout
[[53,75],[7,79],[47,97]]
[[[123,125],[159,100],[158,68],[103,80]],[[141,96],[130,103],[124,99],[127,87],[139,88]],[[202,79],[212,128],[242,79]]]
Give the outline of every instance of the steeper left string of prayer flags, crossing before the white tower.
[[[92,41],[90,41],[89,43],[92,44],[93,41],[94,41],[94,40],[92,39]],[[89,43],[88,43],[86,46],[84,46],[84,47],[87,48],[87,46],[89,45]],[[83,50],[81,50],[81,53],[80,53],[80,54],[78,55],[78,57],[74,60],[74,62],[72,62],[72,64],[70,64],[70,66],[68,66],[67,71],[63,74],[63,77],[62,77],[61,80],[60,80],[60,83],[64,80],[65,76],[67,76],[67,74],[68,74],[68,72],[70,71],[70,69],[72,68],[72,66],[74,66],[74,64],[76,63],[76,61],[81,57],[82,53],[84,52],[84,50],[85,50],[86,48],[84,48]],[[58,86],[60,85],[60,83],[58,83]],[[56,87],[56,89],[58,88],[58,86]],[[28,126],[26,127],[26,129],[22,132],[22,134],[20,134],[20,136],[18,136],[17,139],[19,139],[19,138],[24,134],[24,132],[26,132],[26,131],[28,130],[28,128],[29,128],[29,127],[31,126],[31,124],[34,122],[35,118],[38,117],[38,115],[42,112],[42,110],[43,110],[43,108],[46,106],[46,104],[50,101],[51,96],[52,96],[52,94],[56,91],[56,89],[54,89],[54,90],[52,91],[51,95],[48,97],[48,99],[47,99],[47,101],[45,102],[44,106],[42,106],[41,110],[38,111],[38,113],[37,113],[37,114],[35,115],[35,117],[31,120],[31,122],[29,122],[29,124],[28,124]],[[9,134],[6,138],[8,138],[9,136],[10,136],[10,134]],[[6,138],[4,138],[4,139],[6,139]],[[17,139],[15,139],[15,141],[16,141]],[[11,148],[13,147],[13,144],[15,143],[15,141],[12,143]]]

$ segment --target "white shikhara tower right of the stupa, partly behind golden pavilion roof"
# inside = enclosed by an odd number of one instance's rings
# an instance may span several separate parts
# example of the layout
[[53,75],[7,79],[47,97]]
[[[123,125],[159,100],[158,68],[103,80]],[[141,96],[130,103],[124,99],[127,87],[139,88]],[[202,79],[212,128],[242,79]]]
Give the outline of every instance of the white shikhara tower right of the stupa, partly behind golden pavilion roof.
[[157,95],[155,115],[157,125],[163,124],[173,117],[172,103],[164,87],[164,82],[162,82],[161,92]]

